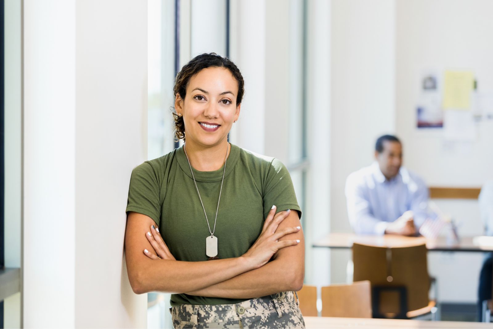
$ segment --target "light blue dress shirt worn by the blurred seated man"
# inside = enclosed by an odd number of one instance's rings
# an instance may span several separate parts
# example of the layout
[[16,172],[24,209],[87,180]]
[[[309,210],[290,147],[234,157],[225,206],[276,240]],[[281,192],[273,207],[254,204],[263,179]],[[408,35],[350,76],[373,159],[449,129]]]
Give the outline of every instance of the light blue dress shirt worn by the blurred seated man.
[[408,210],[414,212],[417,229],[427,218],[428,188],[403,167],[391,180],[385,178],[377,162],[352,173],[346,180],[346,199],[356,234],[383,235],[388,223]]

